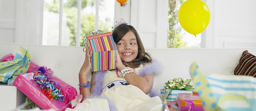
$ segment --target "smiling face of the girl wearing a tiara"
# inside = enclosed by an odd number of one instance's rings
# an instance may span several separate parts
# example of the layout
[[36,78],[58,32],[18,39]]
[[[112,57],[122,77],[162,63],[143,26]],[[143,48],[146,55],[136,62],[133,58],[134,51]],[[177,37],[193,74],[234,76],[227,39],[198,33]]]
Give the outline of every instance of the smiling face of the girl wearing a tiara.
[[116,43],[122,62],[129,63],[138,55],[138,44],[135,34],[130,30]]

